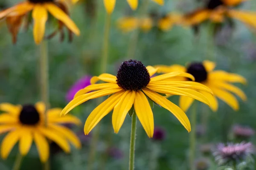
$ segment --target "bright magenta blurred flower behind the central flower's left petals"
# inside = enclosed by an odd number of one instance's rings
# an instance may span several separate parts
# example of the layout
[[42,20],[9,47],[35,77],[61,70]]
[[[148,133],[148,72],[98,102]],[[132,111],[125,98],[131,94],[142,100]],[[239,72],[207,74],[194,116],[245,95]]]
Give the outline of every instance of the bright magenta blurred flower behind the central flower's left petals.
[[70,102],[74,98],[76,92],[90,85],[90,79],[91,77],[87,75],[75,82],[67,92],[66,100]]

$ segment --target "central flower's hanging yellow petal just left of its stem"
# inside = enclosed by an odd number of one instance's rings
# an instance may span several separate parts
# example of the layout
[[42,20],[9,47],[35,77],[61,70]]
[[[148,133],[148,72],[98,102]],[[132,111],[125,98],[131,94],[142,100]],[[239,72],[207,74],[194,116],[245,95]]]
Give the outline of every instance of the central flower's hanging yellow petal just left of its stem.
[[123,122],[125,121],[125,117],[134,103],[135,94],[135,91],[125,91],[119,102],[114,107],[112,124],[115,133],[119,132]]

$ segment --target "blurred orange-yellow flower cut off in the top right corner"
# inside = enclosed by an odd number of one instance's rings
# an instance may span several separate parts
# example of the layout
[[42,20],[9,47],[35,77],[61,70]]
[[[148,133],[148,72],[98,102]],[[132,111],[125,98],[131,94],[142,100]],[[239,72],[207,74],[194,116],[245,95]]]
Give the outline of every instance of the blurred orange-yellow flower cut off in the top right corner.
[[198,25],[205,20],[213,23],[222,23],[227,17],[240,20],[241,22],[256,28],[256,13],[253,11],[240,11],[232,9],[246,0],[210,0],[205,8],[197,9],[184,16],[184,24]]

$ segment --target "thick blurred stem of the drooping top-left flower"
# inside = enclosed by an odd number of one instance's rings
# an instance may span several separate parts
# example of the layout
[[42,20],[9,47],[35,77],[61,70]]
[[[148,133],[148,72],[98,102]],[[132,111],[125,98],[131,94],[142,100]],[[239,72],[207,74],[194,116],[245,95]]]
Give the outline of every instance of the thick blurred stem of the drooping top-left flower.
[[[49,62],[48,62],[48,47],[47,41],[41,42],[40,45],[40,94],[41,101],[45,104],[45,126],[47,126],[47,110],[50,107],[49,102]],[[44,164],[44,170],[49,170],[49,162]]]

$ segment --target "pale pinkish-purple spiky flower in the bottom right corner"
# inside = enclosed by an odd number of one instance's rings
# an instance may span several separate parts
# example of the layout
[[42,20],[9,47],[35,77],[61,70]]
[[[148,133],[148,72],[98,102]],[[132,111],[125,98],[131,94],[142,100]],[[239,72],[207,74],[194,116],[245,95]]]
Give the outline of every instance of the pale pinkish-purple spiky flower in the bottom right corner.
[[217,145],[213,155],[215,156],[215,161],[217,161],[219,165],[222,165],[234,161],[244,161],[247,156],[251,156],[254,152],[255,148],[250,142],[229,143],[226,146],[221,143]]

